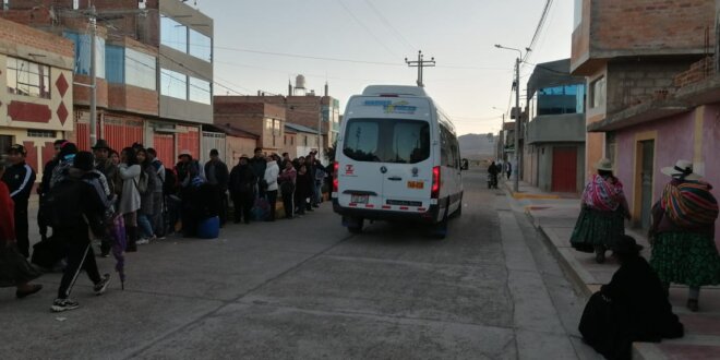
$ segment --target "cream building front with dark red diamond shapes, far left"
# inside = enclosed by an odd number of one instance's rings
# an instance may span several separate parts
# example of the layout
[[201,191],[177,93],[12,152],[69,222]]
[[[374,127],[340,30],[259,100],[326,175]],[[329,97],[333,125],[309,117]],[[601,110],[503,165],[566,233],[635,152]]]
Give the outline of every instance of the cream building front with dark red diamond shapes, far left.
[[73,57],[72,41],[0,19],[0,153],[24,145],[37,172],[73,130]]

